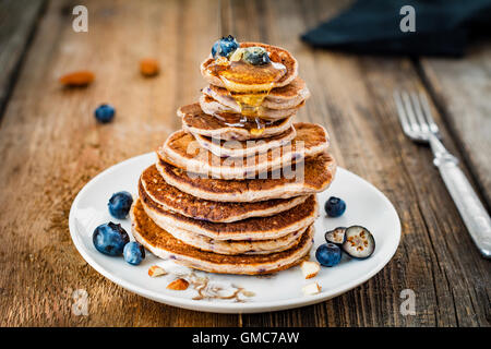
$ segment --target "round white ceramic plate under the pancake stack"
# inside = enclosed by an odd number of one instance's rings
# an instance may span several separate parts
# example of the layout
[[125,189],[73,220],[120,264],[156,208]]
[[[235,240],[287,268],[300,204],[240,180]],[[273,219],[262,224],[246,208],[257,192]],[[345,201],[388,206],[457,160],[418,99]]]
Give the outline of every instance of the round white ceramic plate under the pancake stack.
[[[322,267],[316,277],[306,280],[300,268],[294,267],[271,277],[218,275],[196,272],[199,276],[209,278],[209,285],[220,286],[226,296],[233,287],[241,287],[254,293],[242,297],[243,302],[221,299],[193,300],[196,290],[169,290],[166,286],[180,273],[190,269],[178,266],[171,261],[161,261],[149,252],[139,266],[127,264],[122,257],[106,256],[96,251],[92,243],[94,229],[107,221],[120,222],[130,233],[129,219],[112,218],[107,202],[112,193],[121,190],[136,193],[141,172],[155,161],[153,153],[141,155],[105,170],[91,180],[79,193],[70,210],[70,232],[79,252],[97,272],[121,287],[157,302],[185,309],[215,313],[256,313],[319,303],[342,294],[374,276],[391,260],[397,250],[400,238],[400,222],[394,206],[372,184],[360,177],[338,168],[331,188],[318,195],[321,215],[315,221],[315,243],[311,258],[315,261],[315,249],[324,243],[324,232],[338,226],[360,225],[374,236],[376,248],[373,255],[364,261],[351,260],[344,255],[339,265]],[[327,218],[324,203],[331,196],[346,201],[346,213],[339,218]],[[131,236],[131,233],[130,233]],[[149,266],[158,264],[171,270],[169,275],[151,278]],[[315,296],[303,296],[301,288],[316,281],[322,291]]]

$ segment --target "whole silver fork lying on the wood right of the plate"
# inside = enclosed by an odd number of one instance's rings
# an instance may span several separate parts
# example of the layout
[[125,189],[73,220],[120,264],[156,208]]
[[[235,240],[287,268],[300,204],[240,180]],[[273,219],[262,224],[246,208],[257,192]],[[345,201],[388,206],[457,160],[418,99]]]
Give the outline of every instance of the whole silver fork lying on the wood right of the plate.
[[489,214],[458,168],[457,158],[440,142],[439,128],[433,121],[424,94],[395,91],[394,100],[404,133],[412,141],[430,144],[434,156],[433,164],[439,168],[474,242],[486,258],[491,258]]

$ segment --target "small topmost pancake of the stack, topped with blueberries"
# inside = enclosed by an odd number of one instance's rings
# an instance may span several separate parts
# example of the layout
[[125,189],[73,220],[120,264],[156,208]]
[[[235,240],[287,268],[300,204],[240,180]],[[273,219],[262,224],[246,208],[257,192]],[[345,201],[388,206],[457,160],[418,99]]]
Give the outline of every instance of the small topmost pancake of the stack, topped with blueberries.
[[[280,63],[285,65],[286,73],[276,82],[274,82],[273,87],[283,87],[291,83],[298,75],[298,62],[287,50],[260,43],[241,43],[240,47],[252,47],[260,46],[263,47],[268,53],[272,62]],[[224,83],[218,76],[212,74],[208,70],[211,64],[214,62],[213,57],[208,57],[204,62],[201,63],[200,70],[203,77],[207,83],[218,86],[225,87]],[[248,64],[249,65],[249,64]],[[247,74],[241,75],[240,81],[229,81],[228,85],[231,91],[235,92],[261,92],[265,89],[270,89],[270,84],[263,85],[258,83],[261,81],[261,68],[254,68],[253,65],[248,67]],[[258,73],[255,73],[258,70]]]

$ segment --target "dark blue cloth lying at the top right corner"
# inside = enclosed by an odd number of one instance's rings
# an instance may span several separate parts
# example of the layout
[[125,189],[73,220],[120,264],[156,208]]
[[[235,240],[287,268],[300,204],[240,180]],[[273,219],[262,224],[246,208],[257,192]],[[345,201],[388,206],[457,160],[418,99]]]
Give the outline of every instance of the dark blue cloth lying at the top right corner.
[[[411,5],[416,32],[404,33]],[[491,34],[491,0],[359,0],[301,36],[314,46],[359,53],[460,57],[470,39]]]

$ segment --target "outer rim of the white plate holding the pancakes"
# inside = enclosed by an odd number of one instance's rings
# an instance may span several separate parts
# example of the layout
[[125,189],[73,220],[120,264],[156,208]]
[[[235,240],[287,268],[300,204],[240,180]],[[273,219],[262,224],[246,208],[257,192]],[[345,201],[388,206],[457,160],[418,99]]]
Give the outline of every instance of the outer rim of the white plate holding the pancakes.
[[[111,273],[107,272],[103,265],[97,263],[86,251],[84,243],[80,239],[79,229],[75,225],[75,207],[77,206],[77,203],[80,202],[81,197],[84,195],[84,193],[94,184],[95,182],[99,181],[106,174],[116,171],[118,168],[123,167],[128,165],[128,163],[133,161],[140,161],[145,158],[155,159],[155,153],[145,153],[142,155],[133,156],[131,158],[128,158],[123,161],[120,161],[116,165],[112,165],[108,167],[107,169],[103,170],[98,174],[96,174],[94,178],[92,178],[87,183],[84,184],[84,186],[80,190],[80,192],[76,194],[75,198],[72,202],[72,205],[70,207],[70,215],[69,215],[69,230],[70,230],[70,237],[73,241],[73,244],[75,245],[75,249],[77,252],[82,255],[82,257],[85,260],[91,267],[93,267],[97,273],[101,274],[104,277],[108,278],[112,282],[117,284],[118,286],[122,287],[123,289],[127,289],[133,293],[136,293],[141,297],[165,303],[172,306],[194,310],[194,311],[202,311],[202,312],[212,312],[212,313],[228,313],[228,314],[246,314],[246,313],[261,313],[261,312],[272,312],[272,311],[279,311],[279,310],[287,310],[287,309],[294,309],[294,308],[301,308],[307,306],[315,303],[320,303],[326,300],[330,300],[332,298],[335,298],[339,294],[343,294],[355,287],[358,287],[369,279],[371,279],[373,276],[375,276],[382,268],[387,265],[387,263],[392,260],[394,254],[396,253],[399,243],[400,243],[400,234],[402,234],[402,225],[400,225],[400,218],[397,214],[397,210],[395,209],[392,202],[385,196],[385,194],[380,191],[375,185],[370,183],[369,181],[364,180],[360,176],[345,169],[342,167],[337,168],[337,171],[340,172],[347,172],[351,176],[355,176],[358,180],[361,180],[369,186],[375,190],[375,192],[382,197],[382,200],[386,201],[388,203],[388,207],[393,210],[395,214],[395,217],[397,217],[397,231],[394,231],[395,234],[395,243],[392,246],[392,251],[385,255],[384,258],[381,258],[379,264],[370,273],[364,274],[363,276],[360,276],[359,278],[356,278],[349,282],[344,284],[344,286],[339,286],[333,290],[330,290],[330,292],[321,292],[318,294],[304,297],[303,299],[300,298],[292,298],[287,300],[279,300],[279,301],[261,301],[261,302],[244,302],[244,303],[221,303],[221,302],[213,302],[213,301],[206,301],[206,300],[192,300],[192,299],[185,299],[180,297],[173,297],[168,296],[164,293],[158,293],[156,291],[147,290],[145,288],[142,288],[137,285],[134,285],[133,282],[127,281],[118,276],[112,275]],[[146,159],[145,159],[146,160]],[[149,161],[148,161],[149,163]],[[149,163],[152,164],[152,163]]]

